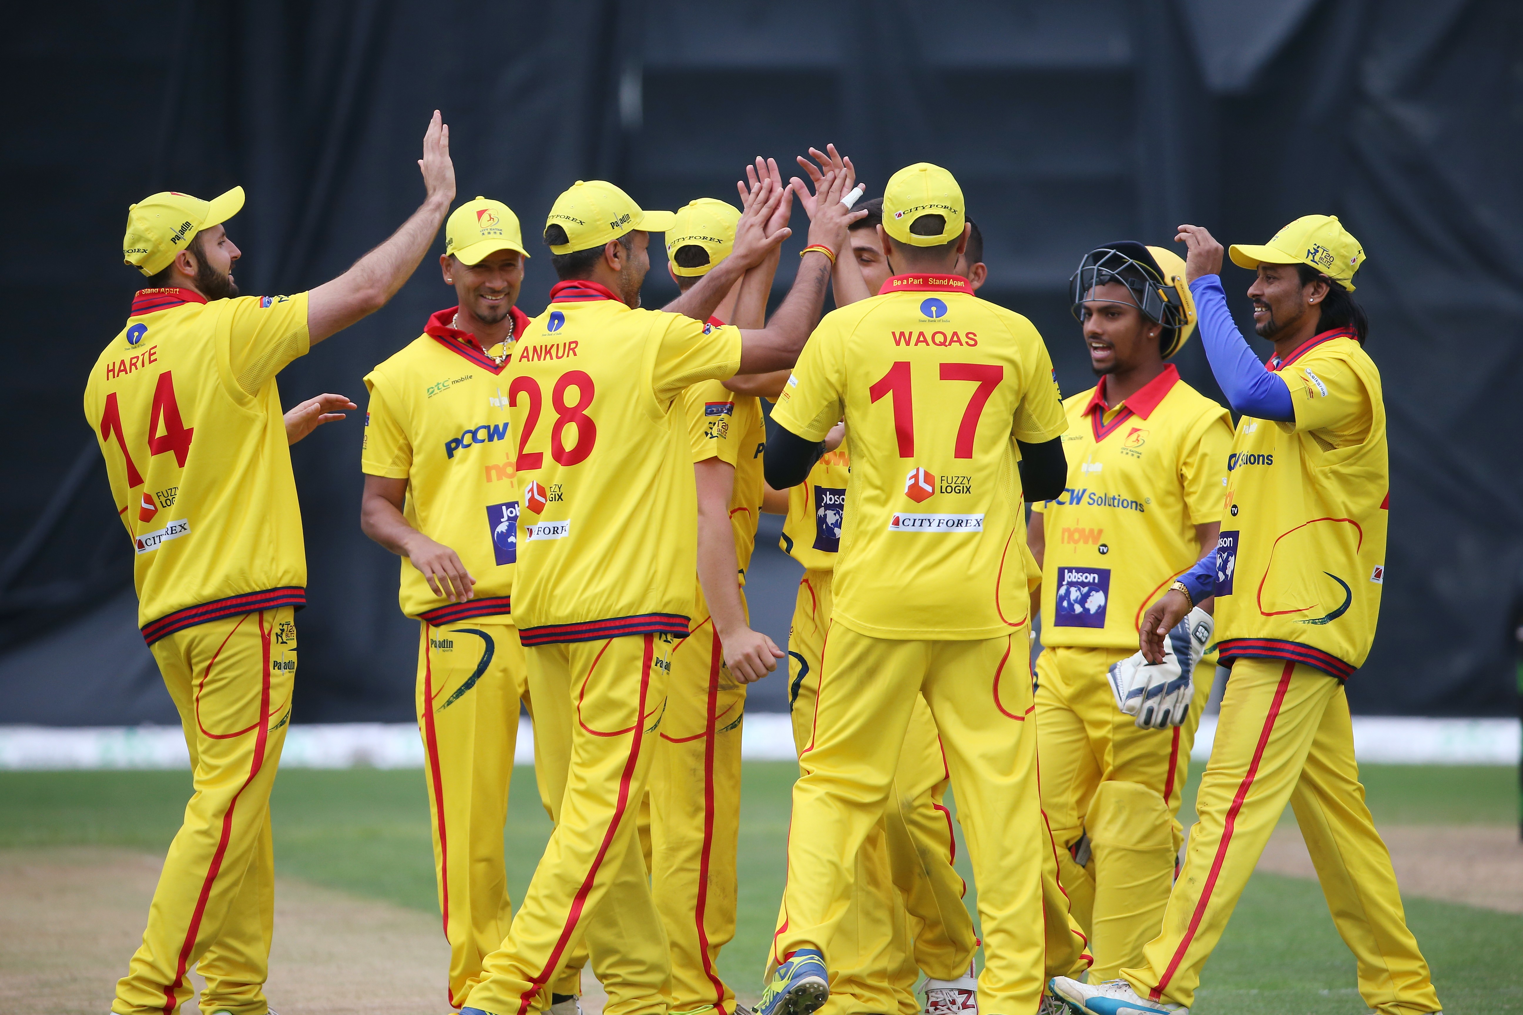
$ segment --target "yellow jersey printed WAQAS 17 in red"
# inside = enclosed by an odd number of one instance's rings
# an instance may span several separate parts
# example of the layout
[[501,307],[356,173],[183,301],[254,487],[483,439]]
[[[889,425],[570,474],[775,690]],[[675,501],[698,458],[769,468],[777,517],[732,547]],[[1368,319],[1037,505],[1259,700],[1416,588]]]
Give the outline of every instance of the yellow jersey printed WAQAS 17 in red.
[[1042,336],[958,275],[896,275],[819,323],[772,418],[851,434],[833,618],[959,641],[1030,619],[1017,450],[1068,426]]

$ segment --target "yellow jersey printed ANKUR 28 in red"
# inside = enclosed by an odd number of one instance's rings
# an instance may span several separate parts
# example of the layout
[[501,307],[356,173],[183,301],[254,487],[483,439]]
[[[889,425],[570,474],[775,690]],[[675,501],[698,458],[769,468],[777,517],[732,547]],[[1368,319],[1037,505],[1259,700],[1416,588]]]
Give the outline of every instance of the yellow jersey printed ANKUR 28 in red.
[[698,496],[688,385],[733,377],[740,329],[635,310],[562,282],[513,344],[524,645],[688,635]]

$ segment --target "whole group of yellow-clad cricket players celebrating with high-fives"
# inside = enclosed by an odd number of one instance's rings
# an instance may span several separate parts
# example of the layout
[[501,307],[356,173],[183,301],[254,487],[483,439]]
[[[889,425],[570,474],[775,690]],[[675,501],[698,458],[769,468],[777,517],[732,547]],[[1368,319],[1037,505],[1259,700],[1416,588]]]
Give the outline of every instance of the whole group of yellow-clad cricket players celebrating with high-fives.
[[[717,957],[746,685],[775,674],[800,778],[758,1015],[1188,1012],[1287,802],[1365,1001],[1439,1010],[1343,694],[1375,632],[1389,472],[1365,254],[1336,218],[1231,248],[1267,364],[1206,230],[1097,245],[1071,303],[1098,382],[1063,400],[1036,327],[978,298],[982,236],[946,169],[860,199],[827,146],[798,158],[807,180],[758,158],[739,207],[676,213],[577,181],[532,318],[518,216],[451,212],[448,140],[436,113],[419,210],[291,297],[233,282],[241,189],[129,210],[149,282],[85,414],[195,796],[113,1012],[171,1015],[190,969],[206,1015],[268,1012],[268,797],[306,601],[289,444],[358,408],[282,412],[276,374],[384,306],[440,227],[455,304],[364,377],[359,467],[361,528],[401,557],[419,624],[451,1007],[576,1015],[591,966],[612,1015],[746,1012]],[[769,313],[795,204],[809,242]],[[679,289],[661,310],[640,301],[652,234]],[[1197,332],[1229,406],[1170,362]],[[804,568],[786,651],[749,624],[760,511]],[[1214,662],[1231,679],[1180,860]],[[521,708],[554,831],[515,910]]]

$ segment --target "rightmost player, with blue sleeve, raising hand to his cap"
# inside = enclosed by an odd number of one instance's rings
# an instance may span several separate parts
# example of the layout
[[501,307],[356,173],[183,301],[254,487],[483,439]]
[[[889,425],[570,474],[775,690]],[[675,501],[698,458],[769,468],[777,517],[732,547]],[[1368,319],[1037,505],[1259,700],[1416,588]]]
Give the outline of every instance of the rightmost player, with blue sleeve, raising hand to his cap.
[[[1179,227],[1200,335],[1241,412],[1228,457],[1226,514],[1206,557],[1142,618],[1141,647],[1193,601],[1215,595],[1215,638],[1232,667],[1185,866],[1142,962],[1094,986],[1055,980],[1078,1010],[1185,1012],[1200,969],[1288,802],[1333,922],[1354,953],[1359,992],[1381,1015],[1436,1012],[1427,962],[1365,805],[1343,682],[1375,636],[1384,581],[1389,467],[1380,371],[1352,298],[1365,251],[1333,216],[1308,215],[1267,243],[1232,247],[1256,268],[1261,364],[1226,306],[1221,245]],[[1125,1006],[1124,1009],[1121,1006]]]

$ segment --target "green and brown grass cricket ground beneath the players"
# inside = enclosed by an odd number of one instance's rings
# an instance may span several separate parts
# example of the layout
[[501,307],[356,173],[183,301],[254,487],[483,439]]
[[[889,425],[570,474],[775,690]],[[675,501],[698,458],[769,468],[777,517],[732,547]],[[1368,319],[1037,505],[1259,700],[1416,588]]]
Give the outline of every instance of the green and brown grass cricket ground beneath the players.
[[[743,997],[760,988],[795,772],[787,762],[746,764],[740,927],[720,963]],[[1515,772],[1366,765],[1363,776],[1448,1015],[1523,1012]],[[513,785],[506,843],[516,899],[550,822],[528,768]],[[105,1010],[186,790],[183,772],[0,773],[0,1009]],[[1186,808],[1193,797],[1194,781]],[[271,957],[276,1009],[443,1015],[445,947],[422,773],[289,770],[273,814],[283,878]],[[1298,843],[1287,813],[1206,969],[1200,1015],[1366,1010]],[[958,863],[966,867],[961,852]],[[972,881],[966,869],[964,877]]]

